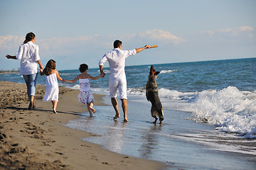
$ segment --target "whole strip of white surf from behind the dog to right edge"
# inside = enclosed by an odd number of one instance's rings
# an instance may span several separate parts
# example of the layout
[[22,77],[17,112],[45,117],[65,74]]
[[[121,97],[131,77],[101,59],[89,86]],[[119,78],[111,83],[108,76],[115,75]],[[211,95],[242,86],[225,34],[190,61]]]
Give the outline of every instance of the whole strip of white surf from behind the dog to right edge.
[[[130,88],[127,91],[133,95],[146,94],[144,88]],[[196,92],[161,88],[159,97],[166,106],[182,102],[172,109],[193,113],[197,122],[217,125],[218,130],[235,132],[243,137],[256,137],[256,91],[239,91],[235,86],[220,91]]]

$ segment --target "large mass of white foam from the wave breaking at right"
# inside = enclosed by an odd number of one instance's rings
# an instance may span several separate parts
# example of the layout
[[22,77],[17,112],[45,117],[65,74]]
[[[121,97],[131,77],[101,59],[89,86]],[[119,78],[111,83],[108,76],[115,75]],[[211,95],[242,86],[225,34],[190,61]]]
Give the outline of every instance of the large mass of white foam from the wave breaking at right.
[[201,91],[189,108],[197,120],[218,125],[219,130],[256,137],[256,98],[253,91],[243,92],[233,86],[220,91]]

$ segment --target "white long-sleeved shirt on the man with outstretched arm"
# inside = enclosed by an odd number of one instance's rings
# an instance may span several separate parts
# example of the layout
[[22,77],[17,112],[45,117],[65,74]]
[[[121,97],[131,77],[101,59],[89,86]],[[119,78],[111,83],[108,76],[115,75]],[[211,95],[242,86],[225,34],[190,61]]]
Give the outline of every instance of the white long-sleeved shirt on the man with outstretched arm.
[[111,52],[107,52],[103,55],[99,62],[99,65],[103,65],[105,62],[110,64],[110,80],[125,79],[125,58],[130,55],[136,55],[136,50],[120,50],[119,48],[114,48]]

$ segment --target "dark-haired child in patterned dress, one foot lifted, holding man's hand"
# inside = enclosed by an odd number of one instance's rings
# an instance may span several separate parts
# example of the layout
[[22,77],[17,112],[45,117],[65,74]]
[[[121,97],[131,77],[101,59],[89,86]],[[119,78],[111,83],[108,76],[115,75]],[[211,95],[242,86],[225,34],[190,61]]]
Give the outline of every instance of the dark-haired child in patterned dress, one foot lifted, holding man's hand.
[[78,76],[75,77],[75,79],[65,80],[65,81],[69,83],[75,83],[75,81],[78,81],[79,79],[80,91],[78,94],[78,102],[81,102],[82,104],[85,104],[85,103],[87,104],[87,109],[90,113],[90,117],[92,117],[92,113],[95,113],[96,111],[94,108],[92,108],[95,99],[90,89],[89,79],[96,80],[96,79],[100,79],[102,76],[91,77],[89,74],[87,74],[88,73],[87,64],[80,64],[79,70],[81,74],[78,74]]

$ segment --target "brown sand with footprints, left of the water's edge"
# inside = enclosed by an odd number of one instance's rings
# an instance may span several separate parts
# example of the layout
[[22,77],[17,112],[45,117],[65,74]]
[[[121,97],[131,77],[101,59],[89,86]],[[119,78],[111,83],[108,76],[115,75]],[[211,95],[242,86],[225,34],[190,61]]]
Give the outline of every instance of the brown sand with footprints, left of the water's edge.
[[[81,140],[96,135],[65,127],[63,124],[87,111],[78,103],[78,90],[60,87],[58,113],[54,114],[52,104],[42,101],[46,86],[36,86],[36,108],[28,111],[25,84],[0,81],[0,85],[0,169],[165,167],[160,162],[109,152]],[[94,96],[95,105],[104,105],[101,95]]]

